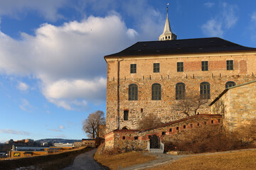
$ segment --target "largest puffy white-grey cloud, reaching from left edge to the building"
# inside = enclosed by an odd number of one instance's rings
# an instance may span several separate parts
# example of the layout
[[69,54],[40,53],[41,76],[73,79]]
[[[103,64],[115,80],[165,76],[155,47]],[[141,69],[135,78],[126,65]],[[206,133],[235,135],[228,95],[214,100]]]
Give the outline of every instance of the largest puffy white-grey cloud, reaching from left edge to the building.
[[85,107],[89,101],[105,101],[103,57],[127,47],[136,36],[119,16],[90,16],[63,26],[46,23],[35,35],[21,33],[21,40],[0,31],[0,72],[41,80],[43,95],[57,106]]

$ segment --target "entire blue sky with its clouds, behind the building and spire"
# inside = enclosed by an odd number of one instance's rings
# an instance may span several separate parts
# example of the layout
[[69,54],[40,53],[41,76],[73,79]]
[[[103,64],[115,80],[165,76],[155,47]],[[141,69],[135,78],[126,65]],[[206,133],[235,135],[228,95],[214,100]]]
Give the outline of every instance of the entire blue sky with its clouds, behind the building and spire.
[[85,138],[82,120],[106,112],[103,57],[158,40],[167,3],[178,39],[256,47],[254,0],[0,0],[0,142]]

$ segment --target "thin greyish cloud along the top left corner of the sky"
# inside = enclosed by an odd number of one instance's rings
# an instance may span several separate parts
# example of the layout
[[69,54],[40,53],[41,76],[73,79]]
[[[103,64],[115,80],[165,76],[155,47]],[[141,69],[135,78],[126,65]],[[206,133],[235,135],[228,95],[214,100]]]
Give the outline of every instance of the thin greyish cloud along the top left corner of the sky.
[[0,16],[8,15],[18,18],[27,11],[37,11],[44,18],[55,21],[61,18],[58,8],[68,4],[68,0],[0,0]]

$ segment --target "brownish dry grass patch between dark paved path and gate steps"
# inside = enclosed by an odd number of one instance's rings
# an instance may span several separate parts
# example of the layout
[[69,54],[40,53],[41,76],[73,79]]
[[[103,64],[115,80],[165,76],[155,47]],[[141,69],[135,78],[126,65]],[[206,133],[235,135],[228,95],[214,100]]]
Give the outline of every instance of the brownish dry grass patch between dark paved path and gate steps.
[[127,152],[123,154],[95,154],[94,157],[100,164],[110,169],[120,169],[134,164],[142,164],[156,159],[153,156],[147,156],[141,152]]

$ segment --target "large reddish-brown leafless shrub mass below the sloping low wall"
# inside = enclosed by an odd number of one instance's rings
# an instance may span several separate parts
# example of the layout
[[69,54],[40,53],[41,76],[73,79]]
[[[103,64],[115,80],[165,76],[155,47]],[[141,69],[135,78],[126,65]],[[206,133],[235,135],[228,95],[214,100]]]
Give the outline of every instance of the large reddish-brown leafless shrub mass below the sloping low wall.
[[194,153],[219,152],[243,148],[242,142],[221,125],[203,125],[174,135],[177,150]]

